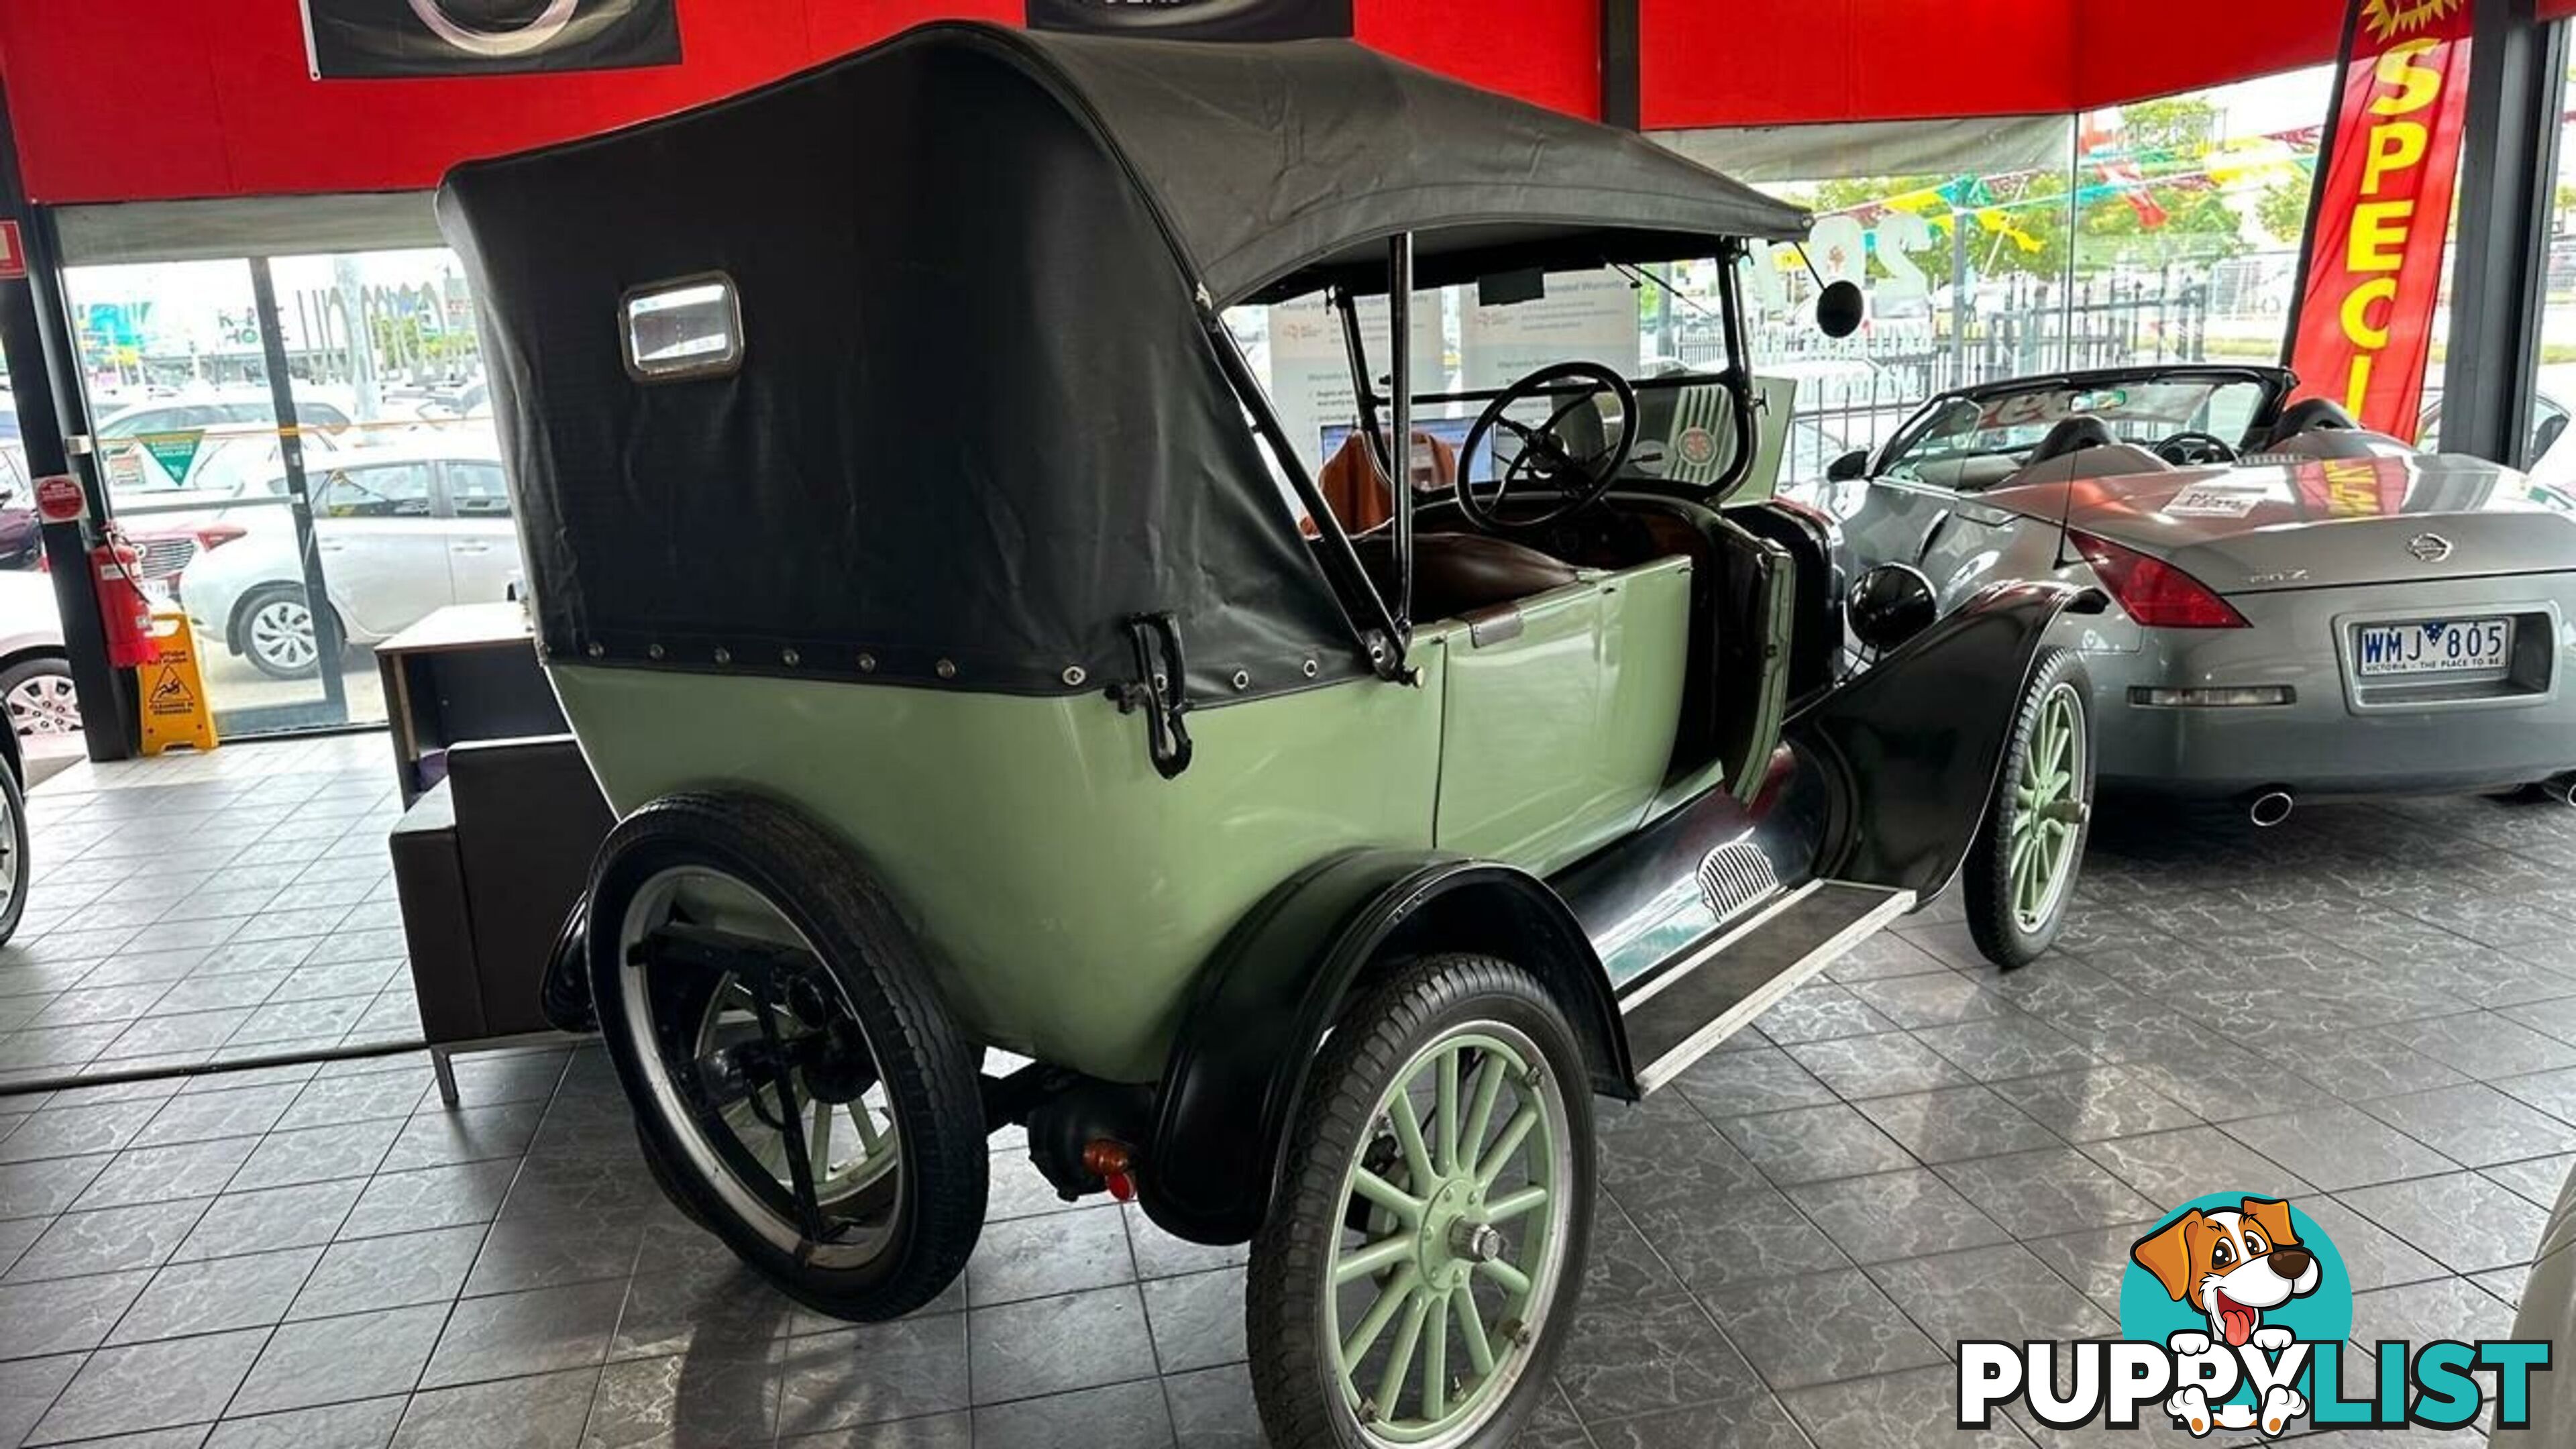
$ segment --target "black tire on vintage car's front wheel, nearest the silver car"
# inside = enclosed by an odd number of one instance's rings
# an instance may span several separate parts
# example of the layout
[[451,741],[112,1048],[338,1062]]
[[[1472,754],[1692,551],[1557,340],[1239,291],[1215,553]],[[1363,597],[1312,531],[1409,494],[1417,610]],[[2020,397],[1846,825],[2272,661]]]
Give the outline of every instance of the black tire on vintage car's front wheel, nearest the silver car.
[[[2038,743],[2040,719],[2053,699],[2069,701],[2081,724],[2076,737],[2076,761],[2069,771],[2076,776],[2074,799],[2081,804],[2081,817],[2074,820],[2066,879],[2050,892],[2045,910],[2027,918],[2014,902],[2012,838],[2025,817],[2020,786],[2032,763],[2030,755]],[[2084,869],[2084,843],[2092,835],[2092,678],[2084,673],[2084,660],[2074,650],[2040,650],[2040,657],[2030,668],[2030,683],[2022,688],[2022,699],[2012,709],[2012,735],[2004,743],[2004,761],[1996,771],[1994,797],[1986,802],[1986,820],[1976,828],[1976,841],[1968,846],[1968,861],[1960,866],[1958,877],[1960,897],[1968,908],[1968,936],[1996,967],[2004,967],[2007,972],[2027,967],[2048,951],[2048,946],[2058,938],[2058,931],[2066,926],[2066,910],[2074,902],[2074,884]]]

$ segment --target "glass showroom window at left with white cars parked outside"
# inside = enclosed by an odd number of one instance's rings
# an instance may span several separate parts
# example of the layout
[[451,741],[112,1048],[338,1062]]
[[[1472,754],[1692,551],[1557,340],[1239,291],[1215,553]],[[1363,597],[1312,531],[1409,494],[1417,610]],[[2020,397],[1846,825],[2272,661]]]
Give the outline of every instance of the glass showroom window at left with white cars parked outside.
[[371,647],[507,598],[518,562],[489,536],[510,508],[482,345],[428,199],[75,206],[62,235],[108,505],[196,624],[216,727],[381,722]]

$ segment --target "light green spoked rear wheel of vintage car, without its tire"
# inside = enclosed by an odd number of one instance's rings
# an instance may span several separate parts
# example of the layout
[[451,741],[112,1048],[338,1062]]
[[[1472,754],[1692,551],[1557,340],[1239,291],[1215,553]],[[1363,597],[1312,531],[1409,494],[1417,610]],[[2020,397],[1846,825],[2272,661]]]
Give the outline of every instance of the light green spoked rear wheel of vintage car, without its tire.
[[[1417,1052],[1342,1178],[1324,1354],[1378,1444],[1458,1444],[1520,1377],[1556,1297],[1571,1142],[1564,1088],[1499,1021]],[[1394,1147],[1391,1160],[1386,1145]]]

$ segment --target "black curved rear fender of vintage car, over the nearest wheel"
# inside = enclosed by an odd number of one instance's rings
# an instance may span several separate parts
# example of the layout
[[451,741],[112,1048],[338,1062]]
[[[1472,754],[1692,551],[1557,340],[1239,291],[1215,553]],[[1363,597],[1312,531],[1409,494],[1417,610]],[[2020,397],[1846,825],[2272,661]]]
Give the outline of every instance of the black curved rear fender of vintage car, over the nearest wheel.
[[1352,985],[1378,962],[1432,951],[1535,972],[1584,1042],[1595,1091],[1633,1096],[1610,977],[1546,882],[1494,861],[1352,851],[1270,892],[1200,975],[1157,1091],[1136,1189],[1146,1217],[1193,1243],[1252,1238]]

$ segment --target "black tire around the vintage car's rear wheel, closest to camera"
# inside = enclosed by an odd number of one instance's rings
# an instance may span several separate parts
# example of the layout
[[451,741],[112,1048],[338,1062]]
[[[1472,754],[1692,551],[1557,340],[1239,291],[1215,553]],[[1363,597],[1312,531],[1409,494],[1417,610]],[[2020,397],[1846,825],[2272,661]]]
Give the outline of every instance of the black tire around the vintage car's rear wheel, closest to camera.
[[[1499,1449],[1548,1395],[1564,1325],[1574,1315],[1592,1240],[1592,1096],[1582,1044],[1564,1011],[1530,972],[1492,957],[1425,957],[1360,995],[1314,1062],[1291,1127],[1280,1191],[1252,1238],[1244,1284],[1244,1330],[1252,1343],[1252,1395],[1275,1449],[1383,1449],[1345,1400],[1329,1333],[1327,1284],[1334,1245],[1358,1227],[1345,1204],[1345,1176],[1376,1137],[1381,1098],[1422,1049],[1471,1024],[1504,1024],[1538,1047],[1564,1104],[1571,1173],[1569,1214],[1558,1225],[1561,1258],[1553,1292],[1517,1343],[1510,1385],[1497,1385],[1486,1418],[1458,1449]],[[1517,1088],[1515,1088],[1517,1091]],[[1409,1271],[1409,1269],[1406,1269]],[[1473,1302],[1473,1299],[1471,1299]],[[1455,1359],[1450,1359],[1455,1364]],[[1448,1434],[1466,1431],[1468,1423]],[[1443,1444],[1450,1444],[1443,1439]]]

